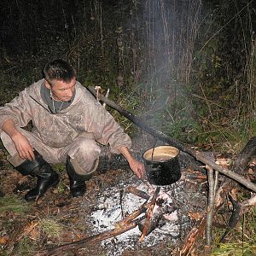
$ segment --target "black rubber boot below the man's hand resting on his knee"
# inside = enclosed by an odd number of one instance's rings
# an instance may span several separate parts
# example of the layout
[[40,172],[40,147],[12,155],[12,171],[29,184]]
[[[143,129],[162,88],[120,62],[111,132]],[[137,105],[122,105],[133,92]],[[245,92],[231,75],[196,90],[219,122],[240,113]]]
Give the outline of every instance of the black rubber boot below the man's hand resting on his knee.
[[55,186],[60,182],[58,174],[52,169],[48,162],[46,162],[42,155],[37,151],[34,152],[35,160],[25,160],[20,166],[15,169],[22,175],[32,175],[37,177],[37,185],[34,189],[29,190],[26,195],[26,201],[34,201],[44,195],[50,187]]

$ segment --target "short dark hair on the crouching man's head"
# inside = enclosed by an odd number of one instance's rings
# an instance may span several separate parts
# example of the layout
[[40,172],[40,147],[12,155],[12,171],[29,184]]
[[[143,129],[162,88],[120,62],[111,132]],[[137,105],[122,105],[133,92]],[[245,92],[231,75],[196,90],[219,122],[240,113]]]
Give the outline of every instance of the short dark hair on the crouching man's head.
[[76,77],[74,68],[67,61],[49,61],[43,68],[43,76],[49,84],[54,85],[55,80],[70,82]]

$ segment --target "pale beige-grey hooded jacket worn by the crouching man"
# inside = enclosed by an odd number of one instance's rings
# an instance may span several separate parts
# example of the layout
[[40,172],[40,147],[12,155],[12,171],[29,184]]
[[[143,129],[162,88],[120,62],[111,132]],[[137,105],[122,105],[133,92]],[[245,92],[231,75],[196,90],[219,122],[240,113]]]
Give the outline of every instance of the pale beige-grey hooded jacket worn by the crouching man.
[[109,144],[110,151],[115,154],[119,154],[120,146],[131,148],[131,138],[79,82],[72,104],[61,113],[50,113],[40,94],[42,83],[44,79],[0,108],[0,127],[6,119],[13,119],[17,127],[25,127],[32,120],[32,132],[52,148],[65,147],[79,136]]

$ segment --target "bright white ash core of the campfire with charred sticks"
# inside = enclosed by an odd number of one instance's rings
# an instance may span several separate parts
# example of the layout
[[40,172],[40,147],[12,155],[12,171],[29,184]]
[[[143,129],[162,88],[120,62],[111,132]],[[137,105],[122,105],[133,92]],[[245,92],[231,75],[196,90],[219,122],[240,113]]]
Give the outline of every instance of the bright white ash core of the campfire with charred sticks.
[[[170,189],[171,186],[168,186]],[[96,232],[116,229],[118,234],[125,233],[129,224],[137,225],[137,241],[143,241],[156,228],[166,222],[177,221],[177,211],[173,207],[172,189],[141,183],[127,185],[125,189],[109,191],[99,199],[101,203],[92,212]],[[130,236],[129,234],[127,234]],[[135,238],[135,237],[133,237]]]

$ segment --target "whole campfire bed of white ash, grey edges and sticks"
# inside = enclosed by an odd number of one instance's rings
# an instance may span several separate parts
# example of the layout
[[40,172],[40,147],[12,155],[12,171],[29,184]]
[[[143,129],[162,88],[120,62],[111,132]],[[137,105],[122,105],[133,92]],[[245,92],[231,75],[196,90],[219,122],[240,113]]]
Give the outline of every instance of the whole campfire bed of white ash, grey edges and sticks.
[[[193,222],[188,212],[205,206],[200,193],[186,195],[185,186],[183,179],[155,186],[133,177],[105,190],[91,213],[93,232],[102,234],[102,247],[118,256],[125,249],[151,247],[164,240],[177,243]],[[189,204],[190,196],[194,206]]]

